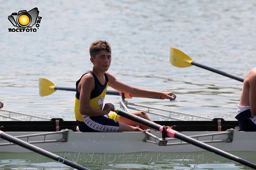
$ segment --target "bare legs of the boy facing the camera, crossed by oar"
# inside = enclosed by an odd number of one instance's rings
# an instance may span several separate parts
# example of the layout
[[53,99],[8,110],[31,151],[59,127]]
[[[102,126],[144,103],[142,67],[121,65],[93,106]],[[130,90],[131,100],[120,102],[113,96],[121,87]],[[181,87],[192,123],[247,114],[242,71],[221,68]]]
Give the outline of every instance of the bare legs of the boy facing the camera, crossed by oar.
[[[145,112],[143,112],[143,111],[129,112],[129,113],[132,113],[132,114],[134,114],[134,115],[137,115],[137,116],[139,116],[139,117],[141,117],[141,118],[144,118],[144,119],[146,119],[146,120],[152,121],[152,120],[148,117],[148,115],[147,115]],[[124,124],[127,124],[127,125],[130,125],[130,126],[139,125],[143,130],[151,129],[151,128],[149,128],[148,126],[139,124],[139,123],[137,123],[137,122],[135,122],[135,121],[132,121],[132,120],[127,119],[127,118],[124,118],[124,117],[122,117],[122,116],[120,116],[119,122],[124,123]],[[152,121],[152,122],[153,122],[153,121]]]

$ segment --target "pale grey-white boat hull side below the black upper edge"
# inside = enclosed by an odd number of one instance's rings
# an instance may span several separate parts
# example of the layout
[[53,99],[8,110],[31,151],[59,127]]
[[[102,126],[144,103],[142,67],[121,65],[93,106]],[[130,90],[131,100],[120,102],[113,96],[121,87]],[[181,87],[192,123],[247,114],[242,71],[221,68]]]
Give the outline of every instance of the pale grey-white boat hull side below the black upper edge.
[[[208,143],[211,146],[224,151],[254,151],[254,142],[256,141],[255,132],[242,132],[231,130],[231,134],[213,135],[208,137],[199,137],[198,140],[208,141],[214,139],[216,142]],[[12,136],[32,135],[38,132],[6,132]],[[181,132],[187,136],[218,134],[221,132]],[[145,132],[74,132],[65,130],[64,142],[36,143],[35,141],[54,141],[63,138],[63,134],[52,134],[29,137],[28,141],[35,142],[33,145],[43,148],[50,152],[77,152],[77,153],[131,153],[131,152],[199,152],[204,151],[201,148],[191,144],[180,143],[180,140],[171,140],[167,146],[159,146],[152,142],[155,138],[151,137],[151,142],[144,142]],[[150,134],[157,136],[161,140],[159,132],[150,131]],[[220,142],[231,137],[229,142]],[[27,140],[27,138],[21,138]],[[7,141],[0,141],[0,152],[31,152],[17,145],[3,144]],[[158,143],[158,142],[157,142]],[[160,142],[161,143],[161,142]],[[1,146],[2,145],[2,146]],[[161,144],[160,144],[161,145]]]

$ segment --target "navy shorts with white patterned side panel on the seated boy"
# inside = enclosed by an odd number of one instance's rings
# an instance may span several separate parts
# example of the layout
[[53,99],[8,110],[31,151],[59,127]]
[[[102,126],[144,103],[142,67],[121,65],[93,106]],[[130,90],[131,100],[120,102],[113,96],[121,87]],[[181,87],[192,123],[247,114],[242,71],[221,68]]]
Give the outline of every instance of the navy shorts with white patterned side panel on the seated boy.
[[119,122],[106,116],[89,117],[82,115],[82,121],[76,120],[81,132],[117,132]]

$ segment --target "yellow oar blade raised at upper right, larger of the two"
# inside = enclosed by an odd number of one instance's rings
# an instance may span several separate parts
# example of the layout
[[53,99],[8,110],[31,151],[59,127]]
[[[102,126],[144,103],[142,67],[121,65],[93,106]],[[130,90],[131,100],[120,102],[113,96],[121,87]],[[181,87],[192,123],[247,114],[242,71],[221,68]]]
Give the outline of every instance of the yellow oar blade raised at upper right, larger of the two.
[[193,60],[184,52],[172,48],[170,49],[170,63],[176,67],[190,67]]

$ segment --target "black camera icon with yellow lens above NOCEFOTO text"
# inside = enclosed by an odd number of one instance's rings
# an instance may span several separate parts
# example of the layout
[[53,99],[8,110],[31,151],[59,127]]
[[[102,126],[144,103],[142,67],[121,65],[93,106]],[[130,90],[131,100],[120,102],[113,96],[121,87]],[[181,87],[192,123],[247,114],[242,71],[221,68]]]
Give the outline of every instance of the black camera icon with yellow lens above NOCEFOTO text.
[[38,8],[33,8],[28,12],[26,10],[14,12],[8,16],[8,19],[15,27],[32,27],[36,24],[38,14]]

